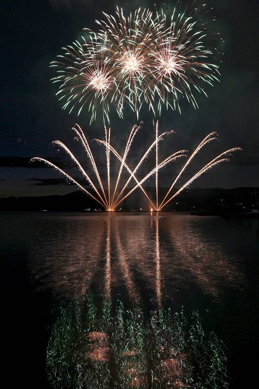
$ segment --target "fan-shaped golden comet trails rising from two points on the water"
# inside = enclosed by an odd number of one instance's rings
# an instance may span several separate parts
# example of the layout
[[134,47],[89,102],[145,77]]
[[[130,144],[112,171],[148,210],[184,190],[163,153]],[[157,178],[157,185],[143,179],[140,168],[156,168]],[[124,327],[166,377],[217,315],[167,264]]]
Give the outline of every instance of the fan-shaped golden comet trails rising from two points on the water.
[[[39,157],[35,157],[32,160],[37,161],[43,161],[48,166],[53,167],[56,169],[59,173],[63,174],[71,183],[75,184],[80,190],[85,192],[87,195],[90,195],[94,200],[96,200],[100,205],[104,207],[106,211],[116,211],[117,207],[121,204],[123,200],[125,200],[129,195],[131,195],[137,188],[140,188],[142,193],[147,198],[151,210],[154,211],[161,211],[173,198],[175,198],[177,195],[179,195],[185,188],[189,187],[189,185],[198,177],[202,176],[204,173],[206,173],[209,169],[223,163],[229,161],[229,156],[238,150],[241,150],[239,147],[231,148],[229,150],[224,151],[223,153],[219,154],[216,158],[210,160],[206,165],[204,165],[200,170],[198,170],[189,180],[187,180],[184,184],[180,186],[178,190],[175,190],[173,193],[173,189],[176,184],[179,185],[179,181],[182,178],[183,174],[185,173],[186,169],[192,162],[192,160],[195,158],[195,156],[211,141],[217,140],[217,133],[211,132],[208,134],[195,148],[193,153],[190,155],[190,157],[187,157],[187,150],[179,150],[177,152],[174,152],[169,157],[163,159],[161,162],[159,162],[158,158],[158,146],[160,141],[167,139],[167,137],[172,134],[174,131],[165,131],[162,134],[158,134],[158,122],[155,124],[155,140],[151,141],[150,145],[147,147],[145,152],[141,155],[139,161],[137,164],[135,164],[134,168],[129,167],[129,163],[127,162],[128,154],[132,146],[132,142],[134,141],[134,138],[136,137],[138,131],[140,129],[140,125],[135,125],[128,137],[123,155],[121,156],[116,149],[111,145],[110,143],[110,136],[111,136],[111,130],[110,128],[104,127],[104,133],[105,133],[105,140],[95,139],[97,143],[104,146],[105,150],[105,160],[106,160],[106,174],[105,178],[101,178],[100,171],[97,167],[96,161],[94,159],[93,153],[91,151],[91,148],[89,146],[89,143],[86,139],[86,136],[81,129],[81,127],[78,124],[75,124],[73,127],[73,130],[76,134],[76,139],[80,141],[80,143],[83,146],[83,149],[86,152],[86,156],[88,161],[90,162],[91,170],[94,173],[94,178],[91,178],[90,173],[87,173],[87,171],[83,168],[80,161],[74,156],[74,154],[69,150],[69,148],[62,143],[61,141],[54,141],[53,143],[56,144],[60,149],[63,149],[70,159],[73,161],[74,165],[78,168],[84,179],[86,180],[86,184],[90,186],[91,190],[86,189],[83,184],[78,182],[77,179],[70,176],[67,172],[65,172],[63,169],[52,163],[51,161]],[[141,165],[147,162],[148,156],[155,151],[155,167],[151,169],[147,174],[145,174],[143,177],[137,177],[139,175],[139,169]],[[116,180],[115,184],[112,187],[111,183],[111,155],[115,157],[119,161],[114,166],[116,169]],[[181,158],[187,158],[186,163],[180,170],[180,172],[176,175],[176,177],[172,181],[172,185],[170,186],[167,194],[164,196],[164,198],[160,201],[158,196],[158,172],[164,168],[165,166],[171,164],[172,162],[181,159]],[[147,164],[147,163],[146,163]],[[119,166],[119,167],[118,167]],[[121,185],[121,179],[125,178],[126,176],[129,176],[128,179],[125,181],[124,185]],[[152,198],[147,194],[147,192],[143,188],[143,184],[150,178],[155,177],[155,201],[152,200]],[[96,182],[94,182],[96,181]],[[132,184],[133,182],[133,184]]]

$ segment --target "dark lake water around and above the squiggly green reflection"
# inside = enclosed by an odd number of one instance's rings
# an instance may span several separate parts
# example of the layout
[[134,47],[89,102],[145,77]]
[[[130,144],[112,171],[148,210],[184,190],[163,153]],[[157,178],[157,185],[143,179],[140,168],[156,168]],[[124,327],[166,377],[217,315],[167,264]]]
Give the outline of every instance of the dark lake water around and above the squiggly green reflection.
[[[256,367],[259,221],[177,213],[0,213],[10,387],[49,388],[56,307],[92,292],[144,312],[200,312],[227,347],[230,388]],[[256,378],[256,377],[255,377]],[[254,379],[255,379],[254,378]],[[15,384],[15,385],[14,385]],[[256,384],[254,384],[256,386]]]

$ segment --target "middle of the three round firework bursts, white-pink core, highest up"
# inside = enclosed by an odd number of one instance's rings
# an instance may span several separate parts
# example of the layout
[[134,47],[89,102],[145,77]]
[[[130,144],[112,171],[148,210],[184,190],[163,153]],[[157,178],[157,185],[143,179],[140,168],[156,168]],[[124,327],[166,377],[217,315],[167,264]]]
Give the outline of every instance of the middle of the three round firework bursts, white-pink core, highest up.
[[163,24],[152,19],[152,12],[139,8],[128,18],[122,8],[116,18],[106,15],[106,21],[98,21],[102,30],[97,34],[105,63],[115,71],[121,101],[126,101],[137,113],[145,101],[153,107],[153,77],[150,71],[150,53],[163,36]]

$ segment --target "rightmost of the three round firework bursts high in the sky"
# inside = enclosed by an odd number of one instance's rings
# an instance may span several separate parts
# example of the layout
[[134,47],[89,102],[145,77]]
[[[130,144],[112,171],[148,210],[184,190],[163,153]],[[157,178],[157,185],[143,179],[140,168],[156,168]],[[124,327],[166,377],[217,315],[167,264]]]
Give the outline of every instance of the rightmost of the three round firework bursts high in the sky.
[[[194,11],[192,11],[194,12]],[[169,19],[169,20],[168,20]],[[191,12],[187,16],[174,8],[172,15],[157,13],[156,21],[164,27],[149,55],[150,70],[158,92],[157,109],[162,104],[173,109],[179,106],[179,96],[185,96],[190,103],[198,107],[193,91],[205,93],[203,84],[213,85],[219,81],[219,66],[209,63],[208,58],[215,52],[206,48],[204,31],[197,29],[197,22]]]

